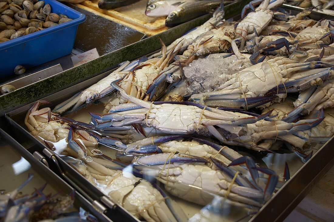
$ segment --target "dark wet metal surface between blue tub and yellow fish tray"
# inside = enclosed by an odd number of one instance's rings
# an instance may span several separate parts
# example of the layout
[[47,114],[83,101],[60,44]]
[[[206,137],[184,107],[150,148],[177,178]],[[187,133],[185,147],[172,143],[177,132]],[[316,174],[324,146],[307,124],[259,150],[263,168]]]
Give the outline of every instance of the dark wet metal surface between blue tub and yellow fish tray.
[[69,7],[85,14],[87,18],[86,22],[79,25],[74,42],[74,48],[84,52],[96,48],[102,56],[145,37],[141,32],[92,14],[75,5],[69,4]]

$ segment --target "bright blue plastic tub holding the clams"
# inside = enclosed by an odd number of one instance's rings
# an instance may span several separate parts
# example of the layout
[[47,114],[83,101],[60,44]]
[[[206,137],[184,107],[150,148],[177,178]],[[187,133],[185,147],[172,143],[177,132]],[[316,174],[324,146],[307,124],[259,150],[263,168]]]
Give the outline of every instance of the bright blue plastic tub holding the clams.
[[17,65],[29,69],[71,53],[78,25],[86,16],[55,0],[44,1],[51,12],[73,20],[0,43],[0,78],[13,75]]

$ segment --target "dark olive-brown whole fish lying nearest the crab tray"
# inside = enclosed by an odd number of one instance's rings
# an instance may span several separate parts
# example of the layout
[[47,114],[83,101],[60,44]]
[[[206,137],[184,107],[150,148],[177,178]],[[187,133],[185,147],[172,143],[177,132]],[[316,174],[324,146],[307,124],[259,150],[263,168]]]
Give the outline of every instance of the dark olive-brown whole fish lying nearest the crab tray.
[[166,26],[173,27],[190,21],[198,16],[213,13],[219,7],[220,1],[190,1],[181,4],[166,18]]

